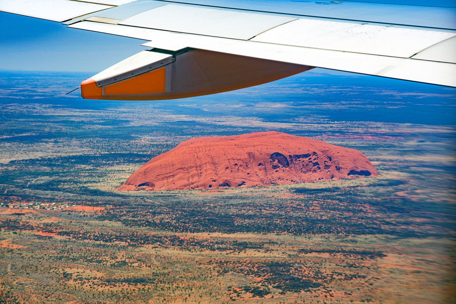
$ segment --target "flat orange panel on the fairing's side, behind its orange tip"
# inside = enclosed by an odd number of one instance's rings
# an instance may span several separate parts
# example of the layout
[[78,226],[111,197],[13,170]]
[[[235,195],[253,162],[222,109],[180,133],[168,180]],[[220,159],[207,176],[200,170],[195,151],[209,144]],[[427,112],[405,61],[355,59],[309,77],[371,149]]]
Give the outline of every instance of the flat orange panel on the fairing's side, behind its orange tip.
[[135,95],[165,92],[164,67],[104,87],[104,95]]

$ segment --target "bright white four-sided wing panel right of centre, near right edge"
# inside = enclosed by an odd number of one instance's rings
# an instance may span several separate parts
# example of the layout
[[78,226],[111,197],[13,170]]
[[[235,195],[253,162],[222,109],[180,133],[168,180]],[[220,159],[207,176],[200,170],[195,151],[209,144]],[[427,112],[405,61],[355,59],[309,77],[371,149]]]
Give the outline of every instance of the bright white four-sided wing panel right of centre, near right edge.
[[454,36],[453,31],[301,18],[265,31],[251,41],[409,58]]

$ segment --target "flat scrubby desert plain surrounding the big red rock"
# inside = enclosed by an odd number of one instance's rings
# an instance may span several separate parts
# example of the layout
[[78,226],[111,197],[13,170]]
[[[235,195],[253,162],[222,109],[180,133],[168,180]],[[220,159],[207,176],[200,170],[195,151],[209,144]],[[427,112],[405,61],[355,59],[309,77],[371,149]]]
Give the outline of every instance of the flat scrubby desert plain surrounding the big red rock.
[[[82,73],[0,71],[0,299],[453,303],[456,90],[326,72],[110,102],[65,95]],[[378,177],[115,190],[184,140],[259,131],[358,149]]]

